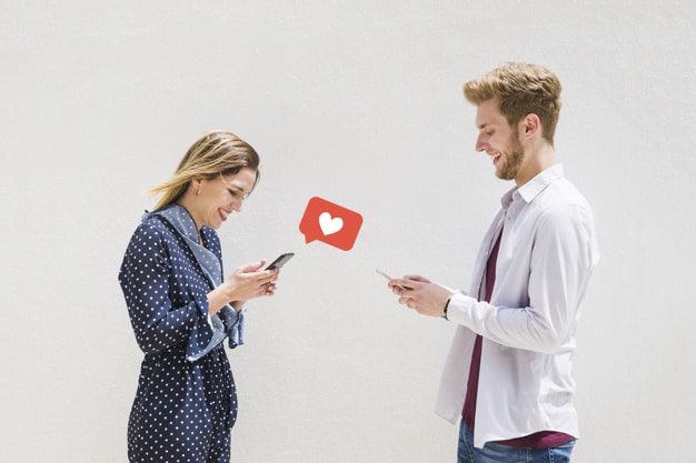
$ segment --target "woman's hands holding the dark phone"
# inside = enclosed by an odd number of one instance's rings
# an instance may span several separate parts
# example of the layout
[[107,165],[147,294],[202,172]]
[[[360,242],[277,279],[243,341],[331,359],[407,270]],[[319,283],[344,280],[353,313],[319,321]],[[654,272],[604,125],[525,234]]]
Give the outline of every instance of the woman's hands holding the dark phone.
[[225,282],[208,293],[208,310],[215,314],[225,304],[232,303],[240,310],[246,301],[265,295],[274,295],[279,269],[261,270],[265,260],[249,263],[235,270]]

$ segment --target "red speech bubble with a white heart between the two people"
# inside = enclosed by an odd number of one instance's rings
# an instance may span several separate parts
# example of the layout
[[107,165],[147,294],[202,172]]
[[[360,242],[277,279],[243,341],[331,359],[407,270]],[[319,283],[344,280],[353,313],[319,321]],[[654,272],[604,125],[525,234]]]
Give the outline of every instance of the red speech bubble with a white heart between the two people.
[[362,227],[362,215],[318,197],[307,203],[300,221],[305,242],[321,241],[334,248],[350,251]]

